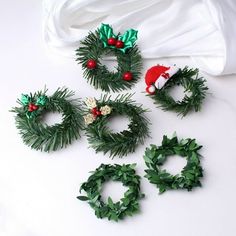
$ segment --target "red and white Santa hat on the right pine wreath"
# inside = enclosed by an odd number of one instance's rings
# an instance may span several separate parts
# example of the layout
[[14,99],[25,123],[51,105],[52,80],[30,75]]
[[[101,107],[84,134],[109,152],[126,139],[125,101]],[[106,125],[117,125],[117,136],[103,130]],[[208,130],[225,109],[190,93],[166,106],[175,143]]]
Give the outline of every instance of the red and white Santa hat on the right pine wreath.
[[145,75],[145,83],[147,85],[146,92],[154,94],[156,89],[161,89],[179,68],[173,66],[157,65],[147,70]]

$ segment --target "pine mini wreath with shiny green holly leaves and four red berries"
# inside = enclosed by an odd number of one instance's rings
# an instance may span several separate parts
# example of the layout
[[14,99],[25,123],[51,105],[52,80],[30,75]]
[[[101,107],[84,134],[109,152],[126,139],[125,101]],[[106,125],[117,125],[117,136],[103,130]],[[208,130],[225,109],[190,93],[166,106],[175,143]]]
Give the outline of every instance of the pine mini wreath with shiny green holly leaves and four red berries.
[[[76,50],[76,60],[82,64],[84,77],[96,89],[118,92],[130,89],[137,82],[142,69],[141,54],[135,44],[137,33],[130,29],[123,35],[115,35],[110,25],[102,24],[81,42],[81,47]],[[103,56],[111,55],[117,58],[116,72],[108,71],[101,63]]]

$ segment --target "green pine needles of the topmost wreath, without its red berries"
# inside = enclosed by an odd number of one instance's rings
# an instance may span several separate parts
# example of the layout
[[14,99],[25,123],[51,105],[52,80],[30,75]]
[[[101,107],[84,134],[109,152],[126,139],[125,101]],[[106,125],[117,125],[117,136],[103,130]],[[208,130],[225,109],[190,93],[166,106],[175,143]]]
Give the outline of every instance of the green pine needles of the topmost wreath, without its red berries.
[[[110,30],[106,34],[102,34],[102,37],[104,37],[102,40],[100,30],[98,29],[95,33],[90,32],[81,42],[80,48],[76,50],[76,60],[82,64],[85,79],[96,89],[106,92],[119,92],[130,89],[141,75],[142,58],[138,46],[135,43],[132,44],[132,47],[128,47],[125,44],[123,48],[125,52],[112,46],[105,47],[108,37],[114,34]],[[127,37],[129,40],[134,38],[132,35],[126,35]],[[124,40],[122,37],[120,39]],[[109,71],[107,66],[101,62],[101,58],[110,56],[115,56],[117,59],[118,66],[115,71]],[[97,64],[94,69],[87,67],[87,62],[91,59]],[[132,74],[132,79],[128,81],[123,79],[124,74],[127,72]]]

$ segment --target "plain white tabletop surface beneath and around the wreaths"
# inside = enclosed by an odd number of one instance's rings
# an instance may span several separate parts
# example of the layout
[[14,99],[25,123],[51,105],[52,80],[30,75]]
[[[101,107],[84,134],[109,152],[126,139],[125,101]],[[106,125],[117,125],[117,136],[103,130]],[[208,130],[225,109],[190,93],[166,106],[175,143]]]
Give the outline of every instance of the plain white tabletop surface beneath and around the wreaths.
[[[52,93],[57,87],[67,86],[81,98],[100,96],[100,91],[82,78],[80,66],[72,59],[45,50],[41,14],[40,1],[0,1],[0,235],[234,236],[236,76],[204,75],[211,94],[202,112],[184,119],[155,108],[142,93],[145,84],[140,81],[132,92],[136,92],[135,100],[152,110],[148,114],[152,139],[126,158],[111,160],[95,154],[88,149],[84,136],[67,149],[51,154],[30,150],[23,145],[14,114],[9,112],[22,92],[34,92],[47,85]],[[190,63],[187,59],[146,61],[144,71],[157,62]],[[141,213],[119,223],[97,219],[85,202],[76,199],[80,183],[101,163],[137,163],[137,172],[143,176],[145,147],[160,144],[164,134],[172,135],[174,131],[179,137],[196,138],[204,146],[202,188],[190,193],[168,191],[160,196],[142,178],[146,198],[140,202]]]

